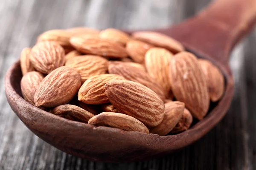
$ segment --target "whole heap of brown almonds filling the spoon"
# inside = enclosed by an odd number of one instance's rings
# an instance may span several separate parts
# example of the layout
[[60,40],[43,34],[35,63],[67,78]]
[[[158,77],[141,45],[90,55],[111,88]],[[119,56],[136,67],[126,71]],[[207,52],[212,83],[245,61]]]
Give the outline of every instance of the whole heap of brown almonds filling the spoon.
[[160,136],[188,130],[224,93],[215,65],[150,31],[50,30],[20,66],[23,98],[49,114]]

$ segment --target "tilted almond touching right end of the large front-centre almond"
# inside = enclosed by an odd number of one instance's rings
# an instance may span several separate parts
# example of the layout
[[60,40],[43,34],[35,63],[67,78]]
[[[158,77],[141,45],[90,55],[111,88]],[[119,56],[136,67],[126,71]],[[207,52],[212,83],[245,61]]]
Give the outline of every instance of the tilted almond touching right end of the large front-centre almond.
[[163,121],[151,128],[150,133],[166,136],[179,122],[183,115],[185,104],[183,102],[168,102],[165,104]]

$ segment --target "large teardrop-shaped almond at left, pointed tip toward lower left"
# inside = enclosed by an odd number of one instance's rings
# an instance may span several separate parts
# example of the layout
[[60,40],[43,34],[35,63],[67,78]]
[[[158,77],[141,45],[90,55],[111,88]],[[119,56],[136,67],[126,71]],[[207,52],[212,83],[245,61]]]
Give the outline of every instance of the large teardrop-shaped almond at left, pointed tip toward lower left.
[[81,76],[74,68],[57,68],[43,79],[36,90],[35,106],[52,108],[64,105],[76,96],[80,87]]

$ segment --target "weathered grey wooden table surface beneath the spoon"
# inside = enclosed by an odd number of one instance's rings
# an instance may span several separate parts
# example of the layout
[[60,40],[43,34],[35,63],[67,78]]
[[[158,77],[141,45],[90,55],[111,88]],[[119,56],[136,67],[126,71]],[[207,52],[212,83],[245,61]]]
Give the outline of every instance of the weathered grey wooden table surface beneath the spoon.
[[35,136],[6,101],[4,77],[24,47],[54,28],[160,28],[210,0],[0,0],[0,170],[255,170],[256,29],[234,49],[235,96],[224,119],[195,144],[148,161],[108,164],[63,153]]

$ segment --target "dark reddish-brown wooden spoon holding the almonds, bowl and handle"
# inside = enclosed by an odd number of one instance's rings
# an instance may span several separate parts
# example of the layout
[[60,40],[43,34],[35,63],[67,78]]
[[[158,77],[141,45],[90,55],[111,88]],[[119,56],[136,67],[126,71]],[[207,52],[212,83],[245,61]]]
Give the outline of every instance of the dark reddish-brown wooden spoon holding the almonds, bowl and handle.
[[13,111],[33,133],[74,156],[93,161],[123,162],[171,153],[200,139],[227,112],[234,90],[228,56],[255,21],[256,0],[217,0],[183,23],[155,30],[180,41],[197,56],[211,60],[221,69],[226,79],[226,90],[218,105],[203,120],[177,135],[158,136],[111,127],[95,127],[36,108],[21,97],[20,61],[6,74],[6,96]]

